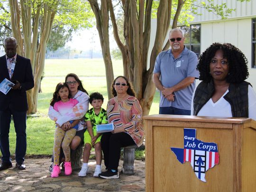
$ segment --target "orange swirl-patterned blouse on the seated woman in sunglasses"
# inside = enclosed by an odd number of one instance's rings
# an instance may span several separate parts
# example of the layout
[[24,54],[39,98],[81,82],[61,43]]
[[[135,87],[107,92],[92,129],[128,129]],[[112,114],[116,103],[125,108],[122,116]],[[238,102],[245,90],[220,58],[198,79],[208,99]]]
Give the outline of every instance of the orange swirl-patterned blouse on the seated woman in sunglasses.
[[116,97],[110,99],[107,105],[107,116],[109,123],[115,125],[115,129],[125,128],[125,133],[132,137],[138,147],[142,144],[144,138],[142,109],[135,97],[129,96],[121,101]]

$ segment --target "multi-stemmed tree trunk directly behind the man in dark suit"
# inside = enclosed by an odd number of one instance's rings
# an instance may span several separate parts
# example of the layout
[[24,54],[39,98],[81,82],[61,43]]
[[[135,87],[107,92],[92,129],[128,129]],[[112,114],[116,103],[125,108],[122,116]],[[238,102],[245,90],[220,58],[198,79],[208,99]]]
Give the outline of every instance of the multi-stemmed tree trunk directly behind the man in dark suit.
[[[30,0],[20,0],[19,3],[20,5],[18,4],[18,0],[9,0],[12,33],[18,43],[17,53],[31,59],[34,75],[35,86],[32,90],[27,91],[27,113],[30,114],[37,112],[37,97],[41,76],[45,66],[46,44],[49,41],[53,19],[59,2],[53,1],[50,3],[50,6],[47,6],[47,3],[45,3],[43,7],[41,7],[43,5],[42,3],[32,5],[32,3],[35,2]],[[43,16],[41,14],[43,14]],[[20,17],[22,19],[22,33],[20,28]],[[33,26],[31,25],[32,22],[30,22],[32,17],[34,22]],[[40,42],[38,43],[40,18],[42,25],[40,26],[41,35]]]

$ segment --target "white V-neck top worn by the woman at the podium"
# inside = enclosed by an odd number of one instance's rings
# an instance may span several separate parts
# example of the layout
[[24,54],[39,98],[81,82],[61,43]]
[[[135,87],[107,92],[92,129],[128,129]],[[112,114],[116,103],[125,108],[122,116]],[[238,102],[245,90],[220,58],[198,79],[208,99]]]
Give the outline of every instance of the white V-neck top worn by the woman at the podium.
[[[210,98],[210,100],[208,100],[200,109],[197,116],[232,117],[231,106],[229,102],[223,98],[228,92],[229,90],[227,90],[215,103]],[[195,91],[192,95],[191,115],[193,115],[194,111],[194,94]],[[256,93],[250,85],[248,85],[248,112],[249,118],[256,120]]]

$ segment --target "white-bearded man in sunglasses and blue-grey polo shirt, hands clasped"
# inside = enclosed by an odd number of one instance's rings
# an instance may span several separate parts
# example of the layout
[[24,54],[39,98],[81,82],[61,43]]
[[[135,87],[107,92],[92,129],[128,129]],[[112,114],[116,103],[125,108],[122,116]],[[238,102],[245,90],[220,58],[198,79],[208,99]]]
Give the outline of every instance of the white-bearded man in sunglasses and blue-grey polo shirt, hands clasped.
[[156,58],[153,82],[160,91],[159,114],[190,115],[192,94],[195,89],[197,56],[184,46],[180,28],[169,33],[171,49]]

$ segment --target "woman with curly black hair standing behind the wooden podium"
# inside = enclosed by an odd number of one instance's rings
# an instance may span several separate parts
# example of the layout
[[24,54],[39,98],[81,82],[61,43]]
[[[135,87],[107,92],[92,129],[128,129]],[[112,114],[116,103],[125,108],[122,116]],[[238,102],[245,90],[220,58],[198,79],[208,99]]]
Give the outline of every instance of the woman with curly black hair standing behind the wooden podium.
[[230,43],[213,43],[199,57],[200,72],[191,114],[249,117],[256,120],[256,94],[248,78],[247,58]]

